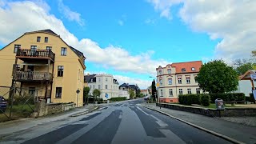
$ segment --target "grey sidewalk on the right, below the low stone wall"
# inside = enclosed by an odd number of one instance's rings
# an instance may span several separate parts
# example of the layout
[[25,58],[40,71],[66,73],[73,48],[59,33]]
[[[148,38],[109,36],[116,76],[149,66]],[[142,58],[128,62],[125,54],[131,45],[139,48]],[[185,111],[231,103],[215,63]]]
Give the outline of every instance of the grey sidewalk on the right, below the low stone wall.
[[244,143],[256,143],[256,126],[246,126],[235,122],[228,122],[222,118],[210,118],[200,114],[193,114],[180,110],[171,110],[166,108],[159,108],[155,104],[143,104],[151,110],[157,110],[171,116],[190,122],[198,127],[206,130],[214,131],[215,133],[228,136],[235,140]]

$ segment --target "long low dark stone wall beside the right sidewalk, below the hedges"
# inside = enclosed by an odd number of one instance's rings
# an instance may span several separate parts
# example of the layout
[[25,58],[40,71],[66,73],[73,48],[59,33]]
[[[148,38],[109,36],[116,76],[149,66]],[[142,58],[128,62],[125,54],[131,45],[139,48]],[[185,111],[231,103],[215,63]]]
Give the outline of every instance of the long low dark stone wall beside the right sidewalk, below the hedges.
[[156,106],[165,107],[173,110],[182,110],[194,114],[202,114],[209,117],[243,117],[243,116],[256,116],[255,108],[226,108],[225,110],[214,110],[193,106],[180,106],[175,104],[157,103]]

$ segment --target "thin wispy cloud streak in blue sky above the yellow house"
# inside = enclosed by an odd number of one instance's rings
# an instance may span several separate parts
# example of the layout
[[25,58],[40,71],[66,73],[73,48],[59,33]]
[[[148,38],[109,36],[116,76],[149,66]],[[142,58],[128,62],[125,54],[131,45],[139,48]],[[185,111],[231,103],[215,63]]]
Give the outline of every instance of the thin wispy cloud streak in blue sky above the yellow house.
[[70,10],[70,8],[62,2],[62,0],[58,0],[58,10],[64,14],[65,18],[67,18],[70,21],[78,22],[80,26],[84,26],[85,22],[81,18],[81,14],[78,12]]

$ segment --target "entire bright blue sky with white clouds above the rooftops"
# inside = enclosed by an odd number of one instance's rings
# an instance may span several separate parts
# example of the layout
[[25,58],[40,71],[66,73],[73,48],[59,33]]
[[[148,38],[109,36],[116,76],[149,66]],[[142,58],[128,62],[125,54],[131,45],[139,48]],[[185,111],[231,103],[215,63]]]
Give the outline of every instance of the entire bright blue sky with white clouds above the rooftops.
[[146,89],[158,66],[249,58],[255,14],[253,0],[0,0],[0,49],[50,29],[83,52],[85,74]]

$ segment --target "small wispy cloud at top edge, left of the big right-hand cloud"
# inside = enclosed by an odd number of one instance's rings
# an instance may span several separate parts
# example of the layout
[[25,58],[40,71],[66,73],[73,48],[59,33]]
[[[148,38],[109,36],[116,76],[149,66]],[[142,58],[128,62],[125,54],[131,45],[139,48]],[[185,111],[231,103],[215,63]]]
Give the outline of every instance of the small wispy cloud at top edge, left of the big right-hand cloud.
[[182,0],[147,0],[154,6],[154,10],[160,12],[160,16],[167,19],[172,19],[172,15],[170,14],[171,6],[174,6]]

